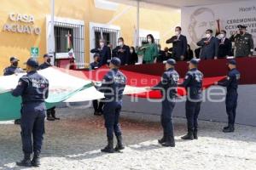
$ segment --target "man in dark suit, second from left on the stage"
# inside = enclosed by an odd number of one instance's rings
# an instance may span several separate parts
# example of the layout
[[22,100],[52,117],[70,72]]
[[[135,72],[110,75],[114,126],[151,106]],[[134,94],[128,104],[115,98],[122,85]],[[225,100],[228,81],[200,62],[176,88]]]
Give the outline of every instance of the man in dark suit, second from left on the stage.
[[124,38],[119,37],[119,46],[113,49],[112,57],[119,58],[121,60],[121,65],[128,65],[130,57],[130,48],[125,45]]

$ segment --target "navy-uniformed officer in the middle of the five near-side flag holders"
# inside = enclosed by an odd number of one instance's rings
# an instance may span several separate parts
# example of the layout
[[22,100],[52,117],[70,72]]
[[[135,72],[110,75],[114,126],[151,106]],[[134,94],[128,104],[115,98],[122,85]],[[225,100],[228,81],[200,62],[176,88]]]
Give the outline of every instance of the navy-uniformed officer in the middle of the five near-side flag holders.
[[176,61],[174,59],[168,59],[166,61],[166,72],[161,77],[161,81],[149,90],[161,90],[163,95],[162,99],[162,112],[161,112],[161,125],[163,127],[164,135],[163,138],[158,140],[163,146],[175,147],[174,133],[173,133],[173,122],[172,122],[172,111],[175,106],[175,99],[177,96],[177,81],[179,75],[174,70]]

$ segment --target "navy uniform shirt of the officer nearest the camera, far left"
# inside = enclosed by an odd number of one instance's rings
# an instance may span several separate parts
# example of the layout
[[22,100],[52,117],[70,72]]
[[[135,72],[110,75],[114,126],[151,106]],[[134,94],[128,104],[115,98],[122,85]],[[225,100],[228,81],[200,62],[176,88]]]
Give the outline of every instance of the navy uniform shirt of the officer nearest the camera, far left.
[[26,76],[20,77],[18,86],[12,92],[15,97],[22,97],[22,104],[44,102],[48,93],[49,82],[37,71],[30,71]]

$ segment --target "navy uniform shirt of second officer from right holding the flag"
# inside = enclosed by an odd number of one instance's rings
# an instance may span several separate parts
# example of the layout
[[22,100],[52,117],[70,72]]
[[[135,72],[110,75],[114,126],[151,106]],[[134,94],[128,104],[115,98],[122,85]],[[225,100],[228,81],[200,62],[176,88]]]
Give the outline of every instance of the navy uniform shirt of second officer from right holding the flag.
[[186,88],[189,99],[202,98],[202,79],[203,74],[196,68],[187,72],[184,82],[179,86]]

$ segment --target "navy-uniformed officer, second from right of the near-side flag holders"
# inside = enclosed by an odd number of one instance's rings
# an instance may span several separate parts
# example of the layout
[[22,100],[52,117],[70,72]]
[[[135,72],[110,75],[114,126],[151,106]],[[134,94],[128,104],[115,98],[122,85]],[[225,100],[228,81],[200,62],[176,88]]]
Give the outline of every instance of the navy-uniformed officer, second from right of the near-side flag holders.
[[202,99],[202,79],[203,74],[197,69],[199,60],[191,59],[189,61],[189,71],[184,81],[179,86],[186,88],[186,118],[188,123],[188,133],[182,139],[198,139],[198,115],[201,109]]

